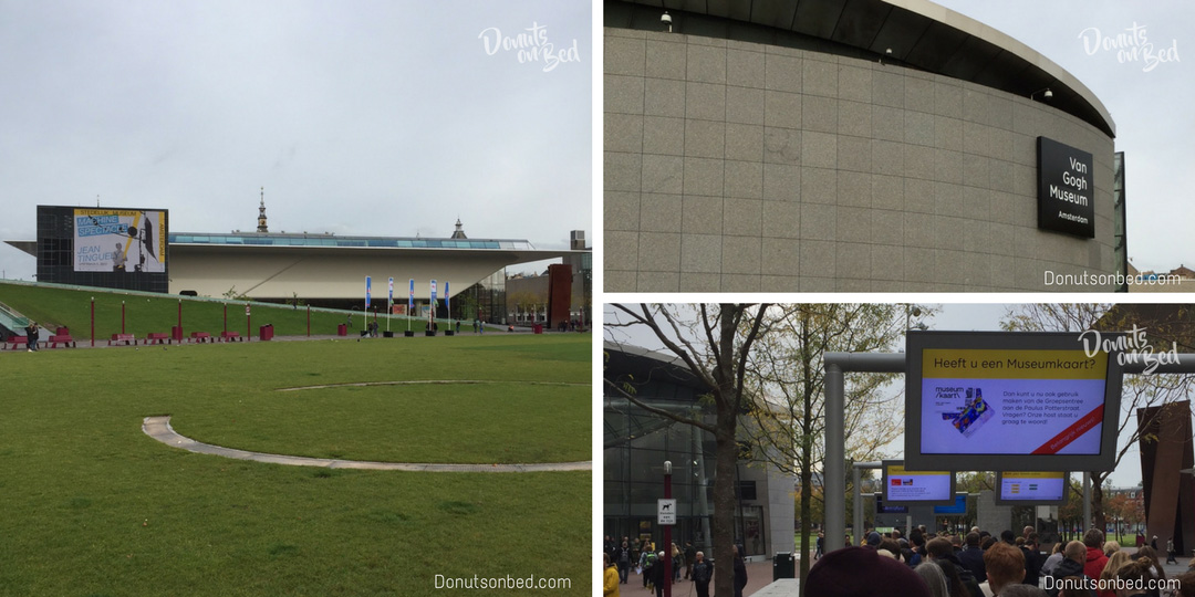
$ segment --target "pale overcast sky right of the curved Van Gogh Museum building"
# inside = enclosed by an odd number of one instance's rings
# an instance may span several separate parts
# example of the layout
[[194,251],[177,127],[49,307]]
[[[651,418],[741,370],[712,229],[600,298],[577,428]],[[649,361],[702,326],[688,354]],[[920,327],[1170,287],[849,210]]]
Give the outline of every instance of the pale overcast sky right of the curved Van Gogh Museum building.
[[[1156,0],[936,0],[991,25],[1052,60],[1087,86],[1116,123],[1124,152],[1128,254],[1140,270],[1195,266],[1195,2]],[[1089,54],[1085,43],[1128,33],[1177,62]],[[1086,42],[1085,42],[1086,41]],[[1144,45],[1142,43],[1142,45]],[[1099,44],[1101,47],[1103,43]]]

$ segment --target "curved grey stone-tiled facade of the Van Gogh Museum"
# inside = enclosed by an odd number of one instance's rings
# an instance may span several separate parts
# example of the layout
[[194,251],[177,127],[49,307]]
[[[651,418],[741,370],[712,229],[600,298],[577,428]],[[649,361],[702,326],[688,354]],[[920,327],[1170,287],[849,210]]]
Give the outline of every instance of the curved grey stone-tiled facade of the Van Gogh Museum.
[[[663,8],[607,2],[605,289],[1114,290],[1092,279],[1117,271],[1115,127],[1098,100],[957,13],[851,4],[887,11],[848,23],[877,23],[870,45],[729,13],[644,31]],[[795,0],[768,5],[799,17]],[[960,32],[952,54],[918,56]],[[1038,228],[1038,136],[1092,155],[1093,238]]]

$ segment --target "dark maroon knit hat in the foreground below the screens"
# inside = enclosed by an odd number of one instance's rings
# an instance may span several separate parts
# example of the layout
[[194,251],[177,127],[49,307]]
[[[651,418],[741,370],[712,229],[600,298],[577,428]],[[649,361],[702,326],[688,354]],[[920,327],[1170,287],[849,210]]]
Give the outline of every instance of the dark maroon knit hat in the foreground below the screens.
[[876,587],[902,597],[931,597],[930,587],[913,568],[863,547],[823,555],[809,571],[805,586],[809,595],[819,597],[871,597]]

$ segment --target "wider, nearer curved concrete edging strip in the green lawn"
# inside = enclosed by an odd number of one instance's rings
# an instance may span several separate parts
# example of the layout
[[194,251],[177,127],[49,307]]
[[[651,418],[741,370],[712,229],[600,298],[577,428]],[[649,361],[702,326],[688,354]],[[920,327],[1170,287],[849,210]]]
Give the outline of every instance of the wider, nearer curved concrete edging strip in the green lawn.
[[180,448],[196,454],[209,454],[223,456],[226,458],[251,460],[253,462],[266,462],[271,464],[287,464],[293,467],[321,467],[321,468],[356,468],[368,470],[410,470],[428,473],[533,473],[553,470],[593,470],[593,462],[540,462],[527,464],[435,464],[412,462],[368,462],[358,460],[335,460],[335,458],[311,458],[306,456],[286,456],[280,454],[264,454],[257,451],[238,450],[235,448],[223,448],[220,445],[196,442],[189,437],[178,435],[170,426],[170,416],[146,417],[141,423],[141,431],[145,435],[166,444],[171,448]]

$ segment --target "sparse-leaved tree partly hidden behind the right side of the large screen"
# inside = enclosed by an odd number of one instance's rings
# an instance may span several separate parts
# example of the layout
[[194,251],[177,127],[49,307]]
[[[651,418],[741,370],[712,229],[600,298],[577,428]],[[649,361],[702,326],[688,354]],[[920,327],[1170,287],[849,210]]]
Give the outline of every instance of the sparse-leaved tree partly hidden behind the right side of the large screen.
[[[1172,308],[1163,314],[1152,313],[1147,318],[1142,318],[1133,306],[1117,307],[1108,303],[1018,304],[1009,309],[1003,326],[1010,331],[1073,333],[1081,333],[1086,330],[1116,332],[1129,330],[1133,326],[1142,326],[1147,338],[1152,343],[1160,344],[1160,346],[1154,345],[1153,347],[1158,351],[1165,351],[1171,345],[1182,345],[1188,340],[1183,333],[1183,326],[1187,325],[1185,310],[1177,304],[1166,307]],[[1145,421],[1138,421],[1138,417],[1133,416],[1134,412],[1187,396],[1190,393],[1193,380],[1195,377],[1190,375],[1127,375],[1124,377],[1116,437],[1127,439],[1116,447],[1113,470],[1120,466],[1121,460],[1133,449],[1134,444],[1142,439],[1141,429],[1145,427]],[[1144,439],[1148,441],[1150,438]],[[1113,470],[1090,472],[1091,513],[1095,517],[1093,527],[1099,530],[1107,528],[1108,517],[1104,511],[1103,485]],[[1091,523],[1092,521],[1084,521],[1084,527]]]

